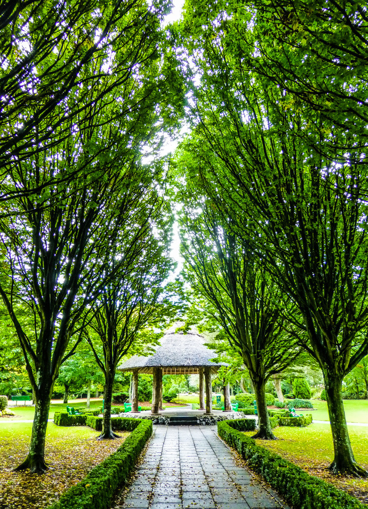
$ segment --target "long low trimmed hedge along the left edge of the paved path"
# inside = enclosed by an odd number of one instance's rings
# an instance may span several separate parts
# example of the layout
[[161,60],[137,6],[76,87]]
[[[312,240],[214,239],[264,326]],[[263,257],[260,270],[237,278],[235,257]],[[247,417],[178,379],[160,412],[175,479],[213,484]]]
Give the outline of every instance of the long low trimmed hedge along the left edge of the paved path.
[[108,509],[111,507],[112,498],[125,484],[138,456],[152,434],[151,420],[129,418],[121,420],[126,427],[120,429],[132,431],[125,442],[115,453],[94,467],[80,483],[63,493],[60,500],[49,509]]

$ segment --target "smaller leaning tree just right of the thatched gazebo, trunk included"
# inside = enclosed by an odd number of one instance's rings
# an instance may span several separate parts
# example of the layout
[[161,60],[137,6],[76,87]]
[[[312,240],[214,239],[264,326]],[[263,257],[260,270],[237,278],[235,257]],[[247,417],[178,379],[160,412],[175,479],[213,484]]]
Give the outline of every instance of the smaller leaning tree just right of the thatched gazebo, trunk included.
[[299,335],[291,324],[286,327],[282,316],[285,300],[264,273],[262,261],[254,257],[249,240],[229,233],[212,203],[199,196],[191,182],[182,210],[185,277],[207,301],[207,314],[249,371],[258,405],[259,430],[253,438],[274,439],[265,385],[300,353]]

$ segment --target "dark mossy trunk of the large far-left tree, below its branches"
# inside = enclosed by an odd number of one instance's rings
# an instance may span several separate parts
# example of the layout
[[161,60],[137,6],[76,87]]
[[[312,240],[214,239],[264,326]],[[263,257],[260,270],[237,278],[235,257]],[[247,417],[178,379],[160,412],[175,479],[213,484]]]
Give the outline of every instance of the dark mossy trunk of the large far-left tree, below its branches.
[[41,393],[39,398],[36,398],[30,450],[23,463],[14,470],[29,468],[31,473],[42,474],[48,468],[45,462],[45,440],[52,387],[46,387],[39,393]]

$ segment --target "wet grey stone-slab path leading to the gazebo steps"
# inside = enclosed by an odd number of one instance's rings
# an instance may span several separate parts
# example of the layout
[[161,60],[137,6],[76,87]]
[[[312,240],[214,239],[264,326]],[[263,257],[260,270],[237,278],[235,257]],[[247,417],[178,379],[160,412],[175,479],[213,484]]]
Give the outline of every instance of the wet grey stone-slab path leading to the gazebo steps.
[[290,509],[236,465],[208,426],[155,426],[124,496],[115,509]]

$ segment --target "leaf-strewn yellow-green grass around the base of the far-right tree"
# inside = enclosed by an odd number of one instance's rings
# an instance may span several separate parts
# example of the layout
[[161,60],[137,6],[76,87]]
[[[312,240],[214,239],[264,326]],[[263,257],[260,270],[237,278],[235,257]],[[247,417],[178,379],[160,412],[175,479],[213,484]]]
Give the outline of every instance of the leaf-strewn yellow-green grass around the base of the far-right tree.
[[[306,428],[279,427],[278,440],[257,440],[258,445],[273,450],[309,474],[348,491],[360,501],[368,502],[368,479],[331,475],[327,470],[333,459],[333,443],[328,424],[313,423]],[[251,436],[252,432],[246,432]],[[368,427],[349,426],[349,436],[357,463],[368,470]]]

